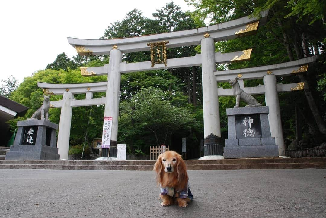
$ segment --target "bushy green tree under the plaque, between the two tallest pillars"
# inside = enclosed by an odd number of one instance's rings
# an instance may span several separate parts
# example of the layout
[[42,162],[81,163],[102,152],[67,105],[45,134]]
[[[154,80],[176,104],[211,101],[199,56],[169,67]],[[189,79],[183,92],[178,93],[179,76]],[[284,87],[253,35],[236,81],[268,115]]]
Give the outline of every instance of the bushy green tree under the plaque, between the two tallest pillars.
[[144,150],[151,144],[171,144],[173,133],[196,125],[188,107],[174,106],[171,101],[175,99],[170,92],[150,87],[122,102],[120,119],[124,122],[119,131],[127,132],[128,136],[122,140],[128,140],[132,148]]

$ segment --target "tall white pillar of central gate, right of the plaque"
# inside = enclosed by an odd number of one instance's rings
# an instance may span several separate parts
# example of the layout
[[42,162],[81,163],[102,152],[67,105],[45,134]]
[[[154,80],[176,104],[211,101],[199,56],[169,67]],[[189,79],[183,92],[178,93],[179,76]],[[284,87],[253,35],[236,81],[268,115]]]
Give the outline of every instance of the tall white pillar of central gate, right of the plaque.
[[215,45],[212,38],[201,40],[201,75],[204,114],[204,138],[213,133],[221,137],[220,113],[218,107],[217,82],[214,75]]

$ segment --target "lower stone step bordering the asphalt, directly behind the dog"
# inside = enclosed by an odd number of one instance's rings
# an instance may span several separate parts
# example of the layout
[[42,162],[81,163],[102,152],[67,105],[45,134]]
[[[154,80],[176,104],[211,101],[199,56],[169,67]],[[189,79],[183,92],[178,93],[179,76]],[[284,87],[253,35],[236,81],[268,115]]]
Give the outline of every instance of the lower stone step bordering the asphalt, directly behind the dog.
[[[194,164],[188,170],[242,170],[242,169],[326,169],[326,163],[261,163],[261,164]],[[153,170],[153,165],[49,165],[1,164],[0,169],[52,169],[52,170]]]

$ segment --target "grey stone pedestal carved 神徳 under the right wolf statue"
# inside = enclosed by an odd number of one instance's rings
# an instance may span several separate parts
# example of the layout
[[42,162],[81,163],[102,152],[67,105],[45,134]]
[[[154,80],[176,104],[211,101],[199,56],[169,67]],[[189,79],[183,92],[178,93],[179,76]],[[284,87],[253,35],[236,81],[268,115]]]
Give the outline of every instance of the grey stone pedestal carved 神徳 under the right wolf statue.
[[228,108],[224,158],[278,157],[271,137],[268,106]]

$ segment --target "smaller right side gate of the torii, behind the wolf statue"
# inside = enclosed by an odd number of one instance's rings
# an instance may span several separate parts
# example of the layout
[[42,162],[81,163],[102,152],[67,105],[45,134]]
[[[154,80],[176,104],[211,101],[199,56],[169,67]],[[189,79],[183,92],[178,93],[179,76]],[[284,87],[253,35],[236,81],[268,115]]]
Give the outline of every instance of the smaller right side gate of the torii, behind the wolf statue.
[[[266,106],[269,107],[268,121],[271,135],[275,138],[280,156],[285,156],[285,145],[277,92],[303,90],[304,83],[276,84],[276,76],[289,76],[306,72],[308,64],[316,61],[316,59],[317,55],[286,63],[236,70],[215,71],[214,73],[217,82],[227,82],[230,81],[230,78],[238,77],[241,78],[238,79],[239,85],[246,93],[250,95],[265,94]],[[263,79],[264,85],[259,85],[258,87],[244,87],[244,80],[252,79]],[[219,96],[233,96],[232,89],[218,88],[217,92]]]

